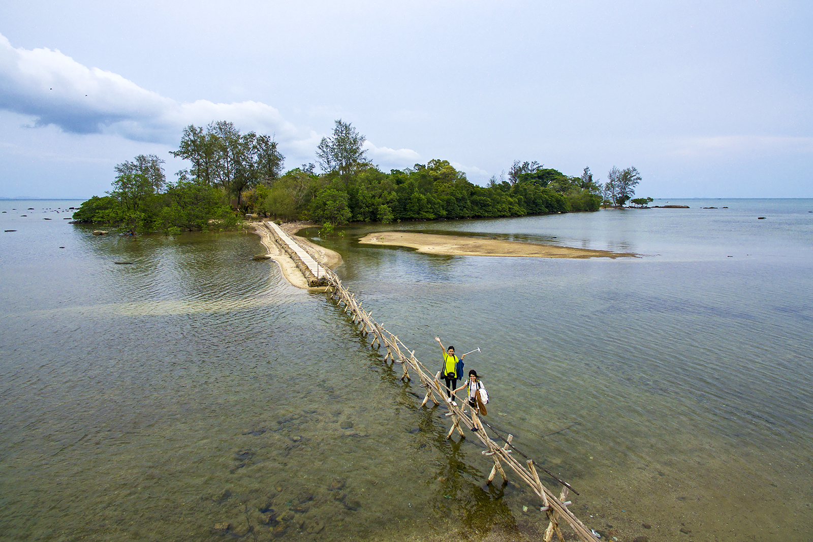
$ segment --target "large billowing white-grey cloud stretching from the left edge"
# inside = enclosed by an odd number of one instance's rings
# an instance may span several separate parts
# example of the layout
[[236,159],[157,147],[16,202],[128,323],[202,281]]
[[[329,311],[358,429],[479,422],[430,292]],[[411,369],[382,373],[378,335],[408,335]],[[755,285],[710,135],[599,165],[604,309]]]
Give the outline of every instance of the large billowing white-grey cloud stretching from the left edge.
[[113,72],[86,67],[59,50],[15,49],[2,35],[0,109],[31,115],[37,126],[54,124],[64,132],[134,141],[176,141],[185,126],[220,119],[243,130],[273,133],[277,141],[294,146],[314,139],[313,134],[300,137],[276,108],[262,102],[176,102]]

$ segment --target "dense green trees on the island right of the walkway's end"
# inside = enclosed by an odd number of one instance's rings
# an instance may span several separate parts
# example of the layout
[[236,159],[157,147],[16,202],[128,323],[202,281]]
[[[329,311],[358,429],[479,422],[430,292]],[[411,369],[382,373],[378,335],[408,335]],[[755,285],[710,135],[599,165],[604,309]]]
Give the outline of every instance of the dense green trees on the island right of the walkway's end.
[[430,160],[404,170],[380,171],[367,160],[364,136],[337,120],[333,137],[316,151],[320,167],[288,171],[267,197],[259,187],[244,194],[249,210],[280,219],[320,223],[350,221],[492,218],[598,210],[601,187],[589,168],[569,177],[539,163],[515,162],[509,180],[493,177],[486,187],[470,183],[446,160]]

